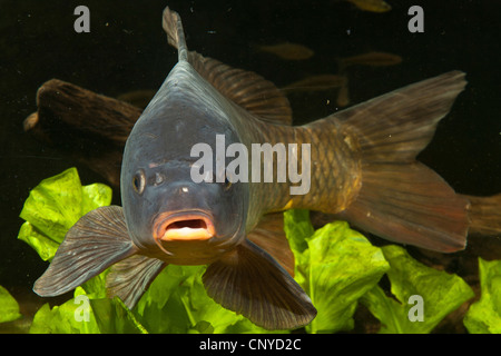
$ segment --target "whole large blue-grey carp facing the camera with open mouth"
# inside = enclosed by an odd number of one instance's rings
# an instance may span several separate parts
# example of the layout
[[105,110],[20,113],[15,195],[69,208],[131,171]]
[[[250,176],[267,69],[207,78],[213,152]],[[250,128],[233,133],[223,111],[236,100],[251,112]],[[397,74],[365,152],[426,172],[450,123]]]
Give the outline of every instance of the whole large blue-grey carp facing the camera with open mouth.
[[[462,72],[294,127],[287,100],[271,82],[189,52],[180,18],[168,8],[164,29],[179,61],[127,140],[122,207],[84,216],[36,293],[62,294],[112,266],[109,294],[132,308],[167,264],[208,265],[203,281],[217,303],[268,329],[296,328],[316,309],[291,277],[283,231],[264,228],[277,211],[318,210],[390,240],[464,248],[468,200],[415,160],[463,89]],[[242,148],[279,144],[289,148],[287,164],[310,172],[304,194],[294,194],[297,180],[278,179],[279,160],[259,160],[261,172],[274,168],[269,182],[250,171],[247,181],[228,174],[226,159],[237,156],[228,155],[232,148],[243,155]],[[197,147],[216,155],[196,182],[205,157]]]

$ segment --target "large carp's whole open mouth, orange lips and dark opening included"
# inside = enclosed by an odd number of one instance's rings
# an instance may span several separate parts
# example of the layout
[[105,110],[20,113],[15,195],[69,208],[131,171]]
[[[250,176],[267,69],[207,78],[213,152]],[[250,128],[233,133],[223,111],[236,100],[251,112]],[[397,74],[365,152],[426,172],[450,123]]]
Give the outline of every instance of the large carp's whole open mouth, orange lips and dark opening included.
[[212,218],[203,211],[165,212],[155,219],[156,240],[207,240],[216,235]]

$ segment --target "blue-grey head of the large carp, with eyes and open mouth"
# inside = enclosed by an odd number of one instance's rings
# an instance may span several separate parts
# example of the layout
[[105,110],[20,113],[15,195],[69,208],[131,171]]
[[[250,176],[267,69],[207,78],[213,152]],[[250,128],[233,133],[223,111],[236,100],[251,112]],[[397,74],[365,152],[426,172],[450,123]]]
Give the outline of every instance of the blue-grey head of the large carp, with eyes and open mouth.
[[[124,212],[139,248],[169,263],[205,264],[245,238],[248,185],[230,182],[224,166],[216,169],[216,137],[224,136],[226,146],[239,142],[225,108],[205,90],[170,77],[127,140]],[[205,179],[197,181],[193,172],[200,171],[200,156],[191,150],[200,144],[214,166],[204,167]]]

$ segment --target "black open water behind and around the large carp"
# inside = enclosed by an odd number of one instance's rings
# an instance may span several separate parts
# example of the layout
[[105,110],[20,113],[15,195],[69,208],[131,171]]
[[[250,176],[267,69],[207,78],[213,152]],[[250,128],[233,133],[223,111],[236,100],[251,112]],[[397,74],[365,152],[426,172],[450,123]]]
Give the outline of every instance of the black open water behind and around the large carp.
[[[373,13],[344,1],[0,0],[0,285],[17,298],[35,298],[31,286],[47,267],[17,240],[30,189],[73,166],[84,185],[104,181],[23,132],[38,87],[58,78],[111,97],[157,89],[177,59],[161,30],[167,4],[180,13],[189,49],[279,87],[335,73],[336,58],[369,51],[403,58],[394,67],[350,70],[352,103],[449,70],[465,71],[466,90],[419,158],[460,192],[500,192],[500,2],[387,2],[390,12]],[[90,33],[73,31],[79,4],[90,9]],[[407,31],[412,4],[424,9],[424,33]],[[285,61],[256,50],[283,41],[305,44],[315,56]],[[335,90],[289,97],[296,122],[334,112],[335,99]]]

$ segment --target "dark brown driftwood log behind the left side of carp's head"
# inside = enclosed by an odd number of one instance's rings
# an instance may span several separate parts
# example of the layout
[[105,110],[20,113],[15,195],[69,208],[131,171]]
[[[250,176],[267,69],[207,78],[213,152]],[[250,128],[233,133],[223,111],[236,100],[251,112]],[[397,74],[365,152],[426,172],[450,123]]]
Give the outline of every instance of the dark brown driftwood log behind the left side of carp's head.
[[57,79],[38,89],[37,106],[24,131],[119,186],[125,142],[141,109]]

